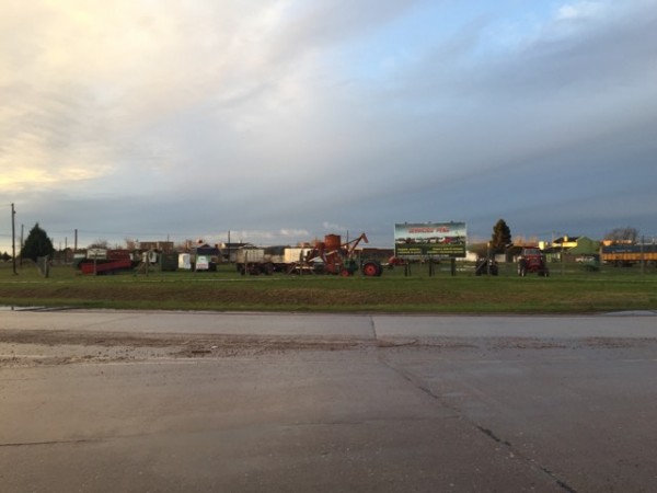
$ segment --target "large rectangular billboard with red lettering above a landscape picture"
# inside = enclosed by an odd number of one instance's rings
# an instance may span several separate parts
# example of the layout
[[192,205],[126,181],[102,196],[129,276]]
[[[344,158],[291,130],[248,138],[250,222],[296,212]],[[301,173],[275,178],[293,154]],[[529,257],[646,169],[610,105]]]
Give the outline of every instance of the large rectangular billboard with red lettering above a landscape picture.
[[465,222],[403,222],[394,225],[395,256],[465,256]]

